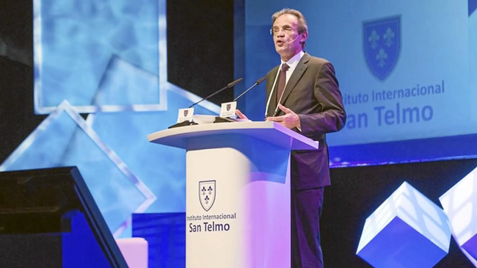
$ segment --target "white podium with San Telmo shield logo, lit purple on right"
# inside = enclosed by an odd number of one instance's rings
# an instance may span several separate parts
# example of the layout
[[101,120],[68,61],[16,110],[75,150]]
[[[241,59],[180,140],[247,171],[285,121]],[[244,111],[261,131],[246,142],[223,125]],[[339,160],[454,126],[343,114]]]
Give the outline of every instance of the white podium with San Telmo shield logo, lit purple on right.
[[317,141],[251,121],[147,138],[186,150],[186,268],[291,267],[290,151]]

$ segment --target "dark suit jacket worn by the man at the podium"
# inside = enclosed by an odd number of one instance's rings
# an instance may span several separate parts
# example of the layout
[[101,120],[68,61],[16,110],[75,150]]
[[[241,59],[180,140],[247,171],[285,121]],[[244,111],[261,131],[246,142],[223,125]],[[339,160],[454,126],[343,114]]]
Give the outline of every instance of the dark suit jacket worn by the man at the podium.
[[[267,73],[267,97],[280,65]],[[278,78],[280,79],[280,77]],[[277,107],[277,85],[270,99],[267,116],[273,116]],[[267,99],[268,100],[268,99]],[[332,64],[305,53],[293,71],[280,102],[299,115],[302,135],[320,142],[320,149],[291,152],[292,186],[310,189],[331,184],[326,133],[343,128],[346,112]],[[284,113],[279,109],[277,116]]]

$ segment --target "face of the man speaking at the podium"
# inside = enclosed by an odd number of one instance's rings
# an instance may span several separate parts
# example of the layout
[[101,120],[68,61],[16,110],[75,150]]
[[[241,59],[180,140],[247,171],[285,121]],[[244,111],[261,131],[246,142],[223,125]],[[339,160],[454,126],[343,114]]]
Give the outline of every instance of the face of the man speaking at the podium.
[[298,19],[292,14],[283,14],[272,26],[275,50],[282,58],[290,59],[302,50],[303,35],[298,34]]

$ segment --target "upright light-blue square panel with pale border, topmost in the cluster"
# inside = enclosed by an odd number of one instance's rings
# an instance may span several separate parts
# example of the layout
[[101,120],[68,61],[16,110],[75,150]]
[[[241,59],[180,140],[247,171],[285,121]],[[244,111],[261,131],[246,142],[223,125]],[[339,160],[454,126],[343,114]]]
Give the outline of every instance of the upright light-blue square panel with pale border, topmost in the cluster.
[[166,109],[165,89],[136,84],[134,91],[117,94],[118,84],[134,78],[111,81],[112,72],[125,74],[116,71],[118,59],[143,76],[159,75],[159,37],[166,35],[158,23],[165,18],[161,2],[34,0],[35,112],[49,113],[63,99],[78,112]]

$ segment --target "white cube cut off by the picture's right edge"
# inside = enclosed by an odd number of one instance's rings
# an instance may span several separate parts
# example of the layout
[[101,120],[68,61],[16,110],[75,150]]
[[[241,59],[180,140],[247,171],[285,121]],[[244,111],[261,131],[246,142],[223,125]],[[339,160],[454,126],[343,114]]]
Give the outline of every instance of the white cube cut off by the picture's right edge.
[[[477,168],[440,198],[457,245],[477,259]],[[468,256],[467,256],[468,257]],[[472,261],[472,260],[471,260]]]

